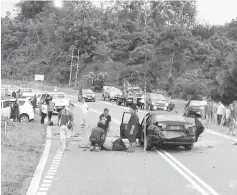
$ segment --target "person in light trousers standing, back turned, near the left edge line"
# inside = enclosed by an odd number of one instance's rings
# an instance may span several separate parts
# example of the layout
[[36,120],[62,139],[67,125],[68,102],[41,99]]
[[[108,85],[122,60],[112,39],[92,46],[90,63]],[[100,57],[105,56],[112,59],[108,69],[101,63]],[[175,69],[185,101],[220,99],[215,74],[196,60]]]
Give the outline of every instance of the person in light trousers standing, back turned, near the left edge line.
[[58,114],[58,125],[60,126],[60,147],[62,150],[69,150],[68,145],[73,129],[73,109],[74,105],[69,104]]

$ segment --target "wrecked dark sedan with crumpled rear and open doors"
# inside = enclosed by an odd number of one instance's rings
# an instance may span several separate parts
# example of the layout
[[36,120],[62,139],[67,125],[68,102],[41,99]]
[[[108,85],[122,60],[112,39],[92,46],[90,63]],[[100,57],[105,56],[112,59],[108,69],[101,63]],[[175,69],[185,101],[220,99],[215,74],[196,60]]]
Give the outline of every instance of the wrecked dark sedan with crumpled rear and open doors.
[[[120,125],[120,137],[128,138],[127,124],[131,114],[124,112]],[[149,150],[152,147],[183,146],[191,150],[204,127],[198,119],[188,118],[173,112],[149,112],[143,118],[137,139]],[[144,139],[146,133],[147,139]],[[144,143],[146,140],[146,143]]]

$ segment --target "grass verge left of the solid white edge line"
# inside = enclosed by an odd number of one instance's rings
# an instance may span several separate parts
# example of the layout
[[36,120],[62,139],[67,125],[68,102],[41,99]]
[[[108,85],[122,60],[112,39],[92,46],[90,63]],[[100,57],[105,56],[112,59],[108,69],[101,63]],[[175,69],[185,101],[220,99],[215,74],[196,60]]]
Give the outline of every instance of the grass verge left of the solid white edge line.
[[26,194],[34,171],[43,153],[46,130],[39,116],[26,124],[7,121],[4,139],[4,119],[1,119],[2,184],[1,194]]

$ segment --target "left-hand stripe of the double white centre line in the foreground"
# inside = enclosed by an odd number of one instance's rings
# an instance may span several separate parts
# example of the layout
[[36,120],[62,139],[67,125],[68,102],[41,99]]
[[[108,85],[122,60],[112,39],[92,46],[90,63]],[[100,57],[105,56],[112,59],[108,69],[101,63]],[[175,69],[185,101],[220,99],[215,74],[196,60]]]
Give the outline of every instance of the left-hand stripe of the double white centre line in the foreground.
[[184,171],[182,171],[177,165],[175,165],[169,158],[167,158],[162,152],[157,153],[165,159],[176,171],[178,171],[185,179],[187,179],[201,194],[210,195],[205,189],[203,189],[198,183],[196,183],[191,177],[189,177]]

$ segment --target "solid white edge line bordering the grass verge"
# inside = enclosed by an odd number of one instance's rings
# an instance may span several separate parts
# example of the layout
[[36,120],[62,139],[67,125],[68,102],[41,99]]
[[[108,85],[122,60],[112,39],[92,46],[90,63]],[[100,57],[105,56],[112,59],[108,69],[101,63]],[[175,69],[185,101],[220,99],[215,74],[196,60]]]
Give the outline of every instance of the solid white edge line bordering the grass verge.
[[[51,127],[49,127],[49,126],[47,127],[47,137],[51,137]],[[30,186],[27,190],[26,195],[32,195],[32,194],[37,193],[37,190],[40,185],[41,177],[42,177],[42,174],[44,171],[44,167],[46,165],[46,162],[47,162],[47,159],[49,156],[50,147],[51,147],[51,139],[46,139],[43,154],[42,154],[42,156],[40,158],[40,162],[34,172],[34,176],[31,180],[31,183],[30,183]]]

